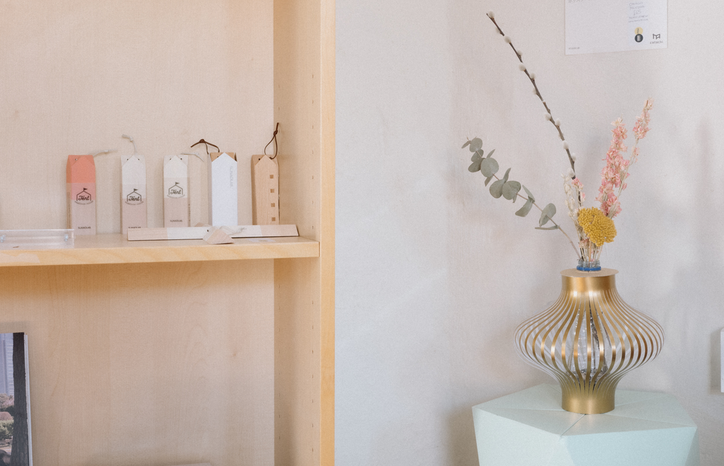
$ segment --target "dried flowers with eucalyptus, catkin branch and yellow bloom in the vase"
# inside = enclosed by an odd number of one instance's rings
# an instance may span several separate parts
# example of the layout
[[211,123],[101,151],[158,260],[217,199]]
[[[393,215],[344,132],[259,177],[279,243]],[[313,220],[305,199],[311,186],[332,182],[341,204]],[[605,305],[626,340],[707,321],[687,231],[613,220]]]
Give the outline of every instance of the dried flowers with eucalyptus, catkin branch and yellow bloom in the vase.
[[[545,108],[544,117],[547,121],[550,121],[558,132],[560,140],[563,142],[563,150],[568,155],[568,162],[571,164],[571,168],[568,169],[568,173],[563,174],[563,189],[565,191],[566,199],[565,205],[568,207],[568,216],[573,220],[573,225],[576,227],[576,233],[578,235],[578,246],[573,243],[571,237],[560,228],[553,215],[555,215],[556,209],[554,204],[547,204],[541,208],[536,204],[531,191],[526,186],[523,186],[518,181],[512,181],[508,179],[510,175],[510,168],[505,171],[505,175],[502,178],[497,176],[497,172],[500,169],[497,160],[491,157],[495,150],[492,150],[488,155],[484,154],[482,140],[478,137],[468,140],[463,144],[463,149],[469,147],[470,152],[473,152],[472,164],[468,167],[471,172],[480,171],[485,176],[485,186],[495,178],[489,188],[492,197],[499,199],[503,197],[505,199],[515,202],[515,199],[521,197],[525,199],[526,203],[523,204],[520,210],[515,212],[515,215],[519,217],[525,217],[528,215],[532,207],[536,207],[541,212],[539,219],[539,225],[536,227],[538,230],[560,230],[568,241],[576,250],[578,255],[578,269],[584,271],[599,270],[600,267],[600,256],[601,249],[605,243],[610,243],[616,236],[616,228],[613,223],[613,218],[618,215],[621,211],[619,198],[624,189],[626,189],[626,179],[629,176],[628,169],[636,163],[639,157],[639,141],[646,137],[649,131],[649,111],[652,108],[653,100],[647,99],[644,103],[644,110],[641,111],[641,115],[636,118],[636,124],[633,126],[633,135],[636,138],[636,142],[631,148],[631,154],[628,155],[628,147],[624,144],[624,140],[627,137],[626,125],[623,124],[621,118],[618,118],[613,122],[613,138],[611,144],[606,153],[606,165],[601,171],[601,186],[599,187],[599,194],[596,200],[600,203],[599,207],[583,207],[583,203],[586,200],[586,194],[584,193],[584,185],[581,180],[576,176],[576,157],[571,153],[571,148],[563,136],[563,131],[560,129],[560,119],[553,118],[552,112],[548,107],[548,104],[541,95],[538,85],[536,84],[536,75],[531,72],[525,63],[523,63],[523,54],[513,46],[513,40],[510,36],[505,35],[500,29],[500,26],[495,22],[495,15],[493,12],[488,12],[487,17],[497,27],[498,33],[502,35],[510,48],[515,52],[515,56],[518,58],[518,69],[525,73],[528,79],[530,79],[533,85],[534,94],[540,99],[541,103]],[[625,158],[623,154],[627,154],[628,158]],[[521,189],[526,192],[527,196],[520,194]],[[552,226],[544,227],[548,222],[552,223]]]

